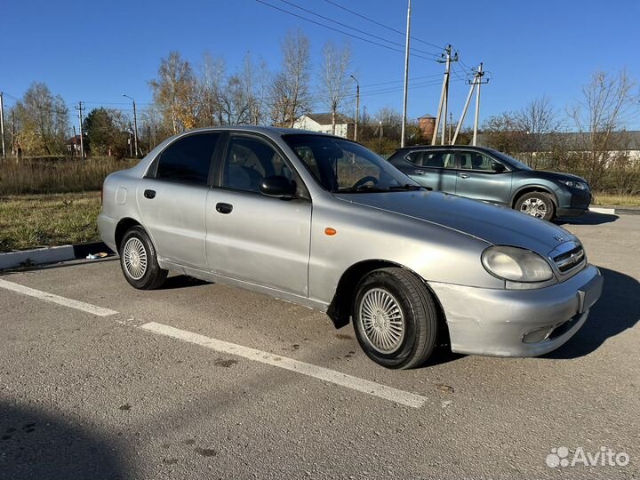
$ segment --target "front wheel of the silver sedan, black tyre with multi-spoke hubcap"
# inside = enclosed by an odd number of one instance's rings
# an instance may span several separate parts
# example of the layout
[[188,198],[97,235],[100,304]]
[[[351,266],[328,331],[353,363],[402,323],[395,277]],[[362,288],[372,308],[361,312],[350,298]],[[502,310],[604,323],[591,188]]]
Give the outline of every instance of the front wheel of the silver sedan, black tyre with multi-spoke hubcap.
[[403,268],[380,268],[364,277],[353,319],[364,353],[387,368],[418,366],[436,347],[436,303],[420,278]]

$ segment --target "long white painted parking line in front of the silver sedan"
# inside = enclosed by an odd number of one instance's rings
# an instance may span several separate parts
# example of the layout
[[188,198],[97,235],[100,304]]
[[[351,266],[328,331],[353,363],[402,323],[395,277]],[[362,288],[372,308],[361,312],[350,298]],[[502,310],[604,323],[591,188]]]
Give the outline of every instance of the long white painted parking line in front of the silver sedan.
[[363,392],[368,395],[378,396],[397,404],[404,404],[413,408],[420,408],[427,402],[427,398],[397,388],[387,387],[380,385],[370,380],[363,380],[357,377],[352,377],[346,373],[336,372],[328,368],[320,367],[312,364],[305,364],[299,360],[293,360],[286,356],[278,356],[256,350],[255,348],[243,347],[242,345],[236,345],[235,343],[229,343],[227,341],[216,340],[198,333],[187,332],[180,330],[169,325],[157,324],[156,322],[149,322],[143,324],[140,328],[148,330],[149,332],[159,333],[167,337],[172,337],[178,340],[184,340],[189,343],[195,343],[206,348],[212,348],[218,352],[227,353],[230,355],[244,356],[249,360],[260,362],[261,364],[268,364],[285,370],[291,370],[292,372],[301,373],[314,377],[316,379],[328,381],[341,387],[351,388],[359,392]]

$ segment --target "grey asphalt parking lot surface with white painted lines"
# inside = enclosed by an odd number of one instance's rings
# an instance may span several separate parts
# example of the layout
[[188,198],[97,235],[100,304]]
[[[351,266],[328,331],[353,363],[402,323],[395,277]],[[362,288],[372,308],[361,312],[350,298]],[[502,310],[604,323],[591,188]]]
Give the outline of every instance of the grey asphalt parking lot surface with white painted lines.
[[[139,292],[114,260],[5,273],[0,478],[638,477],[640,215],[563,226],[605,282],[568,344],[403,372],[252,292]],[[548,467],[563,447],[629,461]]]

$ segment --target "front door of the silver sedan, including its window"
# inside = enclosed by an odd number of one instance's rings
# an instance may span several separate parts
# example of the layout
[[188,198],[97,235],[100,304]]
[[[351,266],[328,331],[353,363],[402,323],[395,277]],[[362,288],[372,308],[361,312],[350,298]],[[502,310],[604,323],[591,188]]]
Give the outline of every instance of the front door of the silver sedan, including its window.
[[[264,177],[296,181],[297,198],[260,193]],[[206,252],[214,273],[308,296],[311,202],[298,175],[268,140],[231,135],[220,188],[206,200]]]

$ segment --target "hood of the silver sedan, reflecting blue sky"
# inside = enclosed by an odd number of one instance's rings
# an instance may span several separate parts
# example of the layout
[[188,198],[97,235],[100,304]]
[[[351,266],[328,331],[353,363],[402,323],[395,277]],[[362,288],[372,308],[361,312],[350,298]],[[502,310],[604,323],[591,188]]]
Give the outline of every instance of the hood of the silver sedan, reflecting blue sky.
[[568,240],[564,228],[507,207],[441,192],[410,191],[336,195],[340,200],[406,215],[475,236],[489,244],[512,245],[547,255]]

